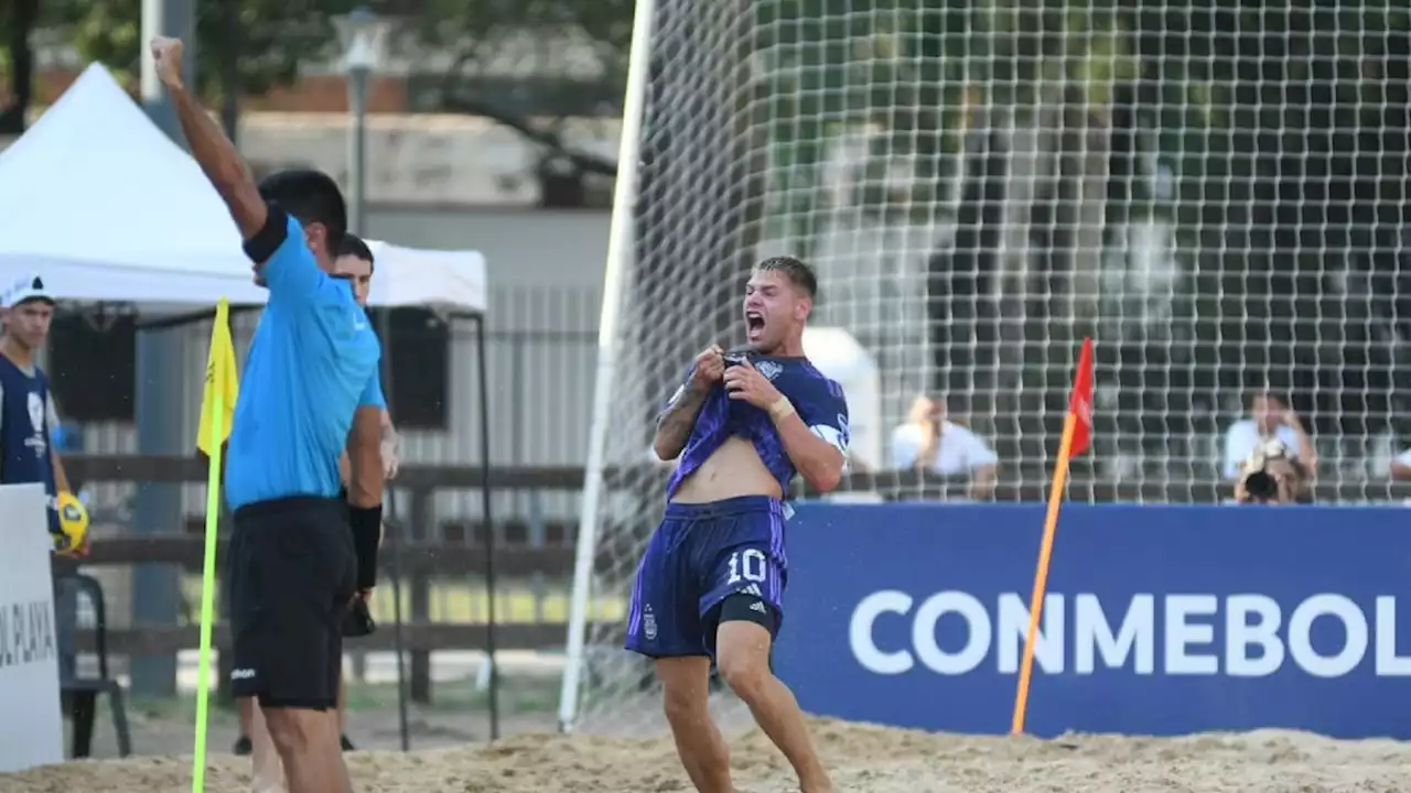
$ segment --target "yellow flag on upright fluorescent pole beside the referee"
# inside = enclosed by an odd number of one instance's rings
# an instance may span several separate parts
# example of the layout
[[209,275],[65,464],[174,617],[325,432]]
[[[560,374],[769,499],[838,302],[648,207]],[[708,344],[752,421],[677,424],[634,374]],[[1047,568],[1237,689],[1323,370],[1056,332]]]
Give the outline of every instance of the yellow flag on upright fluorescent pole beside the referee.
[[216,611],[216,539],[220,526],[220,446],[230,437],[236,415],[236,346],[230,340],[230,303],[216,303],[206,358],[206,387],[200,395],[200,429],[196,449],[210,459],[206,474],[206,559],[200,579],[200,660],[196,672],[196,744],[192,748],[190,789],[206,785],[206,721],[210,700],[210,629]]

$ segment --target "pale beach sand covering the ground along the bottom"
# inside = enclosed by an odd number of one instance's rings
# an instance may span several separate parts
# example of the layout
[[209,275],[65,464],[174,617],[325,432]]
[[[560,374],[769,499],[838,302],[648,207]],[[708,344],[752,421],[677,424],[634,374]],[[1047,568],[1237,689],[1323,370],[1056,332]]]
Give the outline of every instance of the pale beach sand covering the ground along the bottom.
[[[1189,738],[1072,735],[1054,741],[934,735],[814,722],[838,790],[950,792],[1391,792],[1411,789],[1411,744],[1263,731]],[[758,732],[731,741],[742,793],[797,790]],[[349,755],[360,793],[666,793],[690,790],[662,738],[518,735],[494,745]],[[207,790],[246,793],[247,761],[217,756]],[[189,761],[144,756],[0,775],[4,793],[178,793]]]

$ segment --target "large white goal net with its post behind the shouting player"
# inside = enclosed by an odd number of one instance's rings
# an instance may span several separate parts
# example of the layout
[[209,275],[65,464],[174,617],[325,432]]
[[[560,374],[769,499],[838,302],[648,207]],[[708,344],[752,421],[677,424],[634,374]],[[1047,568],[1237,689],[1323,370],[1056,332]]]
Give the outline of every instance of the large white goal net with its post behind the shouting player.
[[1315,446],[1321,500],[1394,495],[1411,444],[1404,3],[655,0],[643,16],[569,724],[656,724],[631,704],[646,666],[618,649],[667,473],[652,418],[697,350],[739,340],[745,275],[770,254],[818,271],[824,340],[806,346],[845,378],[849,487],[967,494],[892,470],[892,430],[931,394],[993,450],[995,498],[1041,498],[1092,336],[1095,450],[1070,497],[1222,498],[1225,435],[1264,391]]

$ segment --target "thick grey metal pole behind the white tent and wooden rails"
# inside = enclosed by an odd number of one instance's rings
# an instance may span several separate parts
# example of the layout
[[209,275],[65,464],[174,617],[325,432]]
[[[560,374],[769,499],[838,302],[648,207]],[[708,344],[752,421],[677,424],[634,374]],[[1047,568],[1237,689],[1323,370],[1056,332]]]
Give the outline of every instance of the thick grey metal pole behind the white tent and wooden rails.
[[[196,83],[195,10],[192,0],[143,0],[143,104],[152,121],[174,141],[185,144],[176,114],[157,79],[145,44],[155,35],[175,35],[186,42],[186,80]],[[183,418],[189,408],[182,371],[183,339],[179,330],[148,330],[137,334],[137,450],[140,454],[182,454]],[[196,382],[196,373],[189,373]],[[175,483],[141,483],[137,487],[134,526],[141,533],[181,531],[181,487]],[[175,625],[181,593],[178,571],[171,566],[138,564],[133,571],[133,622]],[[171,697],[176,694],[176,656],[137,656],[131,665],[133,693]]]

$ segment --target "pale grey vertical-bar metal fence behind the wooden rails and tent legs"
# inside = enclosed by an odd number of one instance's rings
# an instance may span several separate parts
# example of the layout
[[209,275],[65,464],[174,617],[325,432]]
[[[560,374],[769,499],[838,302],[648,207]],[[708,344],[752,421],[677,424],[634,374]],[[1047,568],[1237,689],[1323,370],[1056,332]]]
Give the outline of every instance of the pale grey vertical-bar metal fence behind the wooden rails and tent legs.
[[[576,466],[587,454],[593,374],[597,356],[600,293],[577,286],[512,286],[490,291],[491,310],[485,317],[487,371],[490,380],[490,447],[495,466]],[[258,315],[236,315],[231,330],[241,365]],[[439,322],[439,320],[437,320]],[[181,337],[183,382],[188,384],[179,420],[182,436],[195,447],[200,408],[200,373],[206,363],[210,323],[175,330]],[[402,460],[409,464],[478,464],[480,428],[478,361],[471,327],[452,320],[446,339],[446,423],[439,429],[404,429]],[[439,333],[425,339],[402,339],[408,347],[440,344]],[[439,347],[425,350],[426,365],[442,365]],[[62,367],[52,360],[52,367]],[[415,368],[415,367],[406,367]],[[387,391],[399,389],[391,384]],[[411,405],[402,405],[409,409]],[[394,404],[394,413],[398,406]],[[395,419],[395,415],[394,415]],[[137,453],[137,432],[127,422],[79,425],[80,447],[93,454]],[[99,518],[123,519],[134,494],[128,484],[99,484],[89,494]],[[205,487],[188,485],[183,504],[189,515],[205,508]],[[576,515],[576,498],[566,494],[497,494],[497,512],[504,518],[566,519]],[[478,497],[471,492],[443,492],[436,500],[440,521],[478,519]]]

